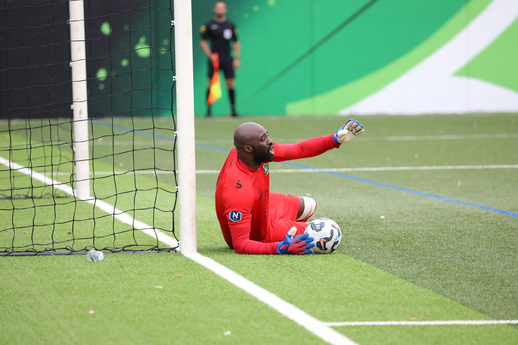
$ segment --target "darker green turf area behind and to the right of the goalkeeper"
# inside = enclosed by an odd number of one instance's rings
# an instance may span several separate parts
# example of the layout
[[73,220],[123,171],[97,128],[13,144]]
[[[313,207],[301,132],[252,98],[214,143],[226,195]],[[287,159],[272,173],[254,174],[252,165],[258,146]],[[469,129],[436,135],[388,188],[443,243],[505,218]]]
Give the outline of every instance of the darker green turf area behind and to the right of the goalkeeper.
[[[368,116],[359,118],[366,128],[358,138],[363,141],[353,141],[350,146],[322,156],[294,162],[315,168],[516,164],[518,153],[513,147],[518,147],[518,139],[514,138],[518,133],[517,118],[513,114]],[[306,117],[290,120],[251,119],[261,123],[274,141],[275,137],[282,136],[287,142],[303,139],[304,134],[306,137],[325,134],[330,130],[324,127],[343,122],[337,117],[318,118],[318,121]],[[213,122],[209,126],[208,122],[198,121],[198,132],[217,128],[218,132],[225,133],[222,137],[231,137],[235,126],[229,123],[228,120]],[[279,127],[282,130],[277,130]],[[381,140],[386,136],[502,133],[514,137]],[[218,144],[222,147],[231,145]],[[223,152],[212,151],[212,154],[225,156]],[[414,158],[415,154],[418,158]],[[376,161],[376,157],[380,158]],[[382,157],[392,159],[387,161]],[[283,168],[293,169],[271,163],[272,170]],[[197,169],[213,167],[204,165]],[[515,198],[518,173],[515,169],[344,174],[506,211],[518,210]],[[208,174],[197,177],[203,190],[210,188],[204,194],[209,198],[213,195],[213,179],[214,176]],[[461,181],[460,186],[458,181]],[[325,173],[272,172],[270,187],[272,191],[300,196],[311,194],[319,205],[314,216],[332,218],[346,230],[347,242],[342,242],[341,252],[492,317],[518,318],[518,286],[515,283],[518,274],[514,268],[518,266],[515,254],[518,223],[515,217]],[[380,219],[382,215],[386,217],[384,220]]]

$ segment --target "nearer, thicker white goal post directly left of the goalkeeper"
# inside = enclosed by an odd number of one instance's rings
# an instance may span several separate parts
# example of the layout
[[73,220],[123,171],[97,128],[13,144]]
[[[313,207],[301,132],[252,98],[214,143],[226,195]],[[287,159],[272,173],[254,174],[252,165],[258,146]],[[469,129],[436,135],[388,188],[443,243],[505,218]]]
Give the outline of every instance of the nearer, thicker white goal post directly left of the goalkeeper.
[[175,61],[178,119],[178,197],[180,251],[197,251],[196,163],[194,148],[194,81],[191,0],[176,0]]

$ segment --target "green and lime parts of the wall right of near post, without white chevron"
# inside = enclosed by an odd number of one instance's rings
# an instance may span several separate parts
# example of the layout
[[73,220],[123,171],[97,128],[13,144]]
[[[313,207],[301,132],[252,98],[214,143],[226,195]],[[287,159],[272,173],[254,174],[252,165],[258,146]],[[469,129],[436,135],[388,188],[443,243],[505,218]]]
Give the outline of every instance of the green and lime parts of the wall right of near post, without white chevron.
[[[242,50],[241,69],[236,73],[238,111],[246,115],[336,114],[424,61],[489,5],[495,5],[496,10],[486,13],[491,14],[493,21],[499,21],[500,14],[510,6],[502,0],[379,0],[371,2],[348,25],[311,51],[368,3],[367,0],[227,1],[227,17],[239,28]],[[207,83],[207,58],[199,48],[198,29],[213,17],[213,4],[212,0],[193,1],[198,115],[205,113]],[[513,63],[518,57],[517,25],[514,22],[506,28],[500,38],[456,75],[518,91],[518,71]],[[303,58],[293,65],[299,57]],[[280,78],[272,80],[283,70],[285,73]],[[509,103],[506,107],[518,110],[518,93],[507,96],[503,101]],[[449,101],[438,96],[437,102]],[[443,104],[438,111],[448,111],[448,107]],[[464,112],[463,107],[452,106],[451,111]],[[491,111],[492,106],[483,104],[482,108]],[[434,109],[431,107],[430,112],[435,112]],[[229,113],[226,93],[214,104],[213,113]]]

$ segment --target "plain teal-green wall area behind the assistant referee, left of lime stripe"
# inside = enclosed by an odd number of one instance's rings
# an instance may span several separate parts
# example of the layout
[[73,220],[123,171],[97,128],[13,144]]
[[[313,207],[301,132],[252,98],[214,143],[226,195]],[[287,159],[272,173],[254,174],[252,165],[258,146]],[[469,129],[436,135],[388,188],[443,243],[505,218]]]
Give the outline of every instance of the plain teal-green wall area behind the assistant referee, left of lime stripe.
[[[271,78],[333,31],[366,0],[229,0],[227,17],[239,28],[241,68],[237,108],[243,114],[285,114],[287,104],[361,79],[408,53],[452,18],[466,0],[380,0],[283,77]],[[199,27],[213,17],[214,1],[193,1],[195,112],[205,111],[207,58]],[[465,23],[463,23],[465,24]],[[224,94],[226,97],[226,94]],[[228,101],[214,104],[229,112]],[[320,112],[314,101],[300,113]]]

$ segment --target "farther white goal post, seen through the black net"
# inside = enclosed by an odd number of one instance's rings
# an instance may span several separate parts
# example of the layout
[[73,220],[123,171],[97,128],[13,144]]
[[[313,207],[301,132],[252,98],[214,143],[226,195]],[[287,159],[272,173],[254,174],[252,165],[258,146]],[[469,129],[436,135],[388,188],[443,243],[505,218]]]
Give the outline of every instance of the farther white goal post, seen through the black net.
[[72,104],[74,113],[74,165],[76,193],[79,199],[90,198],[90,163],[88,145],[87,57],[84,40],[84,2],[68,4],[70,23],[70,67],[72,69]]

